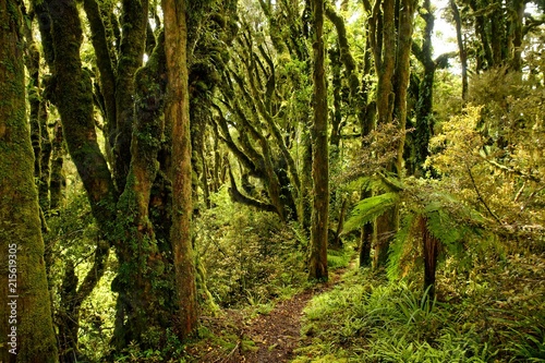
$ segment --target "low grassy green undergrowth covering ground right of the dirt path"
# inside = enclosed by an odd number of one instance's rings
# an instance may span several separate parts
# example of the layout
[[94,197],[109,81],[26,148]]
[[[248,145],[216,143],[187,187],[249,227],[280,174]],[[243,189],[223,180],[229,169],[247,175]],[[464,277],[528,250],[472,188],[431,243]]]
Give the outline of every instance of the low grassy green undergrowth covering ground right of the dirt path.
[[529,254],[445,274],[433,302],[421,285],[350,271],[305,308],[293,362],[545,362],[544,267]]

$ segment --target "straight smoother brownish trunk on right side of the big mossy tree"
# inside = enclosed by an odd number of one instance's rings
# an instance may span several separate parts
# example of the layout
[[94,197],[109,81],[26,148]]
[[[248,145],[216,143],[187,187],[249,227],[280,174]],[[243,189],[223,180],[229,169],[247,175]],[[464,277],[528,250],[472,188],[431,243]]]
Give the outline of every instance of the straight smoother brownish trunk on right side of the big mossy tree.
[[168,100],[166,123],[172,132],[172,228],[171,243],[179,315],[175,332],[186,339],[197,325],[195,256],[191,241],[192,190],[190,100],[187,89],[187,28],[185,0],[162,0],[167,47]]

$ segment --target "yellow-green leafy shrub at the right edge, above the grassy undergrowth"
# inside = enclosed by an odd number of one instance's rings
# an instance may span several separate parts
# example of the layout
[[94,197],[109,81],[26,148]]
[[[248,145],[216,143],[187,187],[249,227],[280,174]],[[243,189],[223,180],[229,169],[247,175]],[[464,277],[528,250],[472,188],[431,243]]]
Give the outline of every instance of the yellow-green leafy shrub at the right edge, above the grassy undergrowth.
[[440,125],[427,160],[487,229],[543,249],[543,86],[505,69],[475,76],[463,113]]

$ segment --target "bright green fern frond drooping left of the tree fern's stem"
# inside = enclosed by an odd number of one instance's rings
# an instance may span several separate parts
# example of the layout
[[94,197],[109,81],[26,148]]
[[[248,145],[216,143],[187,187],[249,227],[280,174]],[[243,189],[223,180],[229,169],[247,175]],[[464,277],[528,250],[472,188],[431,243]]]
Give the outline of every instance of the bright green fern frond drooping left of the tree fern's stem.
[[393,207],[398,199],[398,193],[384,193],[360,201],[352,210],[350,218],[344,222],[342,233],[348,233],[373,221],[373,219]]

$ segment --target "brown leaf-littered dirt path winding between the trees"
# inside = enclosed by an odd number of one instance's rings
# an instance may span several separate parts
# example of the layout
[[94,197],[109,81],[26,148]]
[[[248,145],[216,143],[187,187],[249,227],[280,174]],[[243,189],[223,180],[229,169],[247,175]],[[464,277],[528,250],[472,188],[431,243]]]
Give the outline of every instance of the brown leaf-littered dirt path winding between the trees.
[[218,317],[204,317],[210,336],[204,344],[191,347],[189,355],[199,363],[280,363],[295,358],[300,346],[301,317],[308,301],[335,287],[354,266],[329,271],[329,280],[314,285],[288,300],[278,302],[265,313],[247,314],[225,310]]

